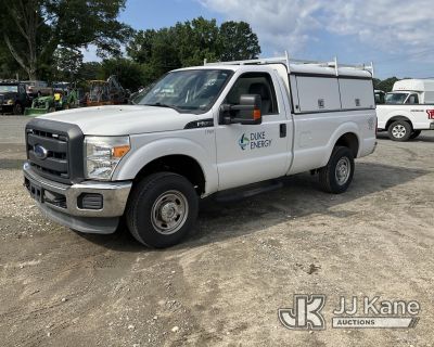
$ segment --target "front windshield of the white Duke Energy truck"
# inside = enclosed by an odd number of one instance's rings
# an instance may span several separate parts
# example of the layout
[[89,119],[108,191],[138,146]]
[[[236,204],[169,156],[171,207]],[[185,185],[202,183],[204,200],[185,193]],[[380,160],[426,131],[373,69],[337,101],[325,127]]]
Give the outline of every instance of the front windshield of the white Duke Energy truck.
[[157,81],[138,104],[203,113],[213,106],[231,75],[232,72],[222,69],[173,72]]

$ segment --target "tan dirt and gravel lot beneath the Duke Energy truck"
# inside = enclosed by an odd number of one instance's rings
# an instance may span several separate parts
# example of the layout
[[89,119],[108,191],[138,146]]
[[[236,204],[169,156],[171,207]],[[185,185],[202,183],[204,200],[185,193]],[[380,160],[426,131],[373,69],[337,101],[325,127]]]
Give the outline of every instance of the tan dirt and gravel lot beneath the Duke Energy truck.
[[[23,125],[0,117],[2,346],[434,346],[434,132],[381,137],[343,195],[299,175],[208,202],[187,242],[152,250],[43,219],[22,187]],[[311,293],[327,330],[283,327],[278,308]],[[340,296],[375,295],[418,300],[418,325],[331,327]]]

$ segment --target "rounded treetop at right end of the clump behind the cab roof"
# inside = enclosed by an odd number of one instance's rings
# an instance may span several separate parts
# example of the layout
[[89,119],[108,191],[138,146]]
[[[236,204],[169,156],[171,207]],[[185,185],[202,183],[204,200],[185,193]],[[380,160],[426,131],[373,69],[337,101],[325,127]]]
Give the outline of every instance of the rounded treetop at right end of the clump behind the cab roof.
[[225,22],[220,26],[221,61],[256,59],[260,54],[259,41],[248,23]]

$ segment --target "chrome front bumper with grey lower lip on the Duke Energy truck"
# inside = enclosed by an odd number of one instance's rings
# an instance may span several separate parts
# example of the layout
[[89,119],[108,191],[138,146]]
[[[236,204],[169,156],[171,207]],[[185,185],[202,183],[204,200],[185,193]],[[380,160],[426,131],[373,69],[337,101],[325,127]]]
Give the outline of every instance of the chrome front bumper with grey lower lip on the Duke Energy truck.
[[[85,181],[68,185],[40,177],[24,164],[24,185],[48,218],[68,228],[89,233],[111,233],[117,228],[132,183]],[[86,196],[97,205],[84,205]]]

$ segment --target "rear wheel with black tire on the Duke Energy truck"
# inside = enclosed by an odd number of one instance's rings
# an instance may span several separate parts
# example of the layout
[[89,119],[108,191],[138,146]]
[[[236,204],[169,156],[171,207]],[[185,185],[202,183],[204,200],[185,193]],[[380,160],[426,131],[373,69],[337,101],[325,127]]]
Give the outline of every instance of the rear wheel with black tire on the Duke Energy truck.
[[329,163],[319,169],[321,189],[333,194],[345,192],[353,181],[354,169],[353,152],[345,146],[335,146]]

